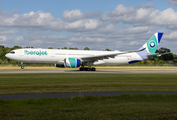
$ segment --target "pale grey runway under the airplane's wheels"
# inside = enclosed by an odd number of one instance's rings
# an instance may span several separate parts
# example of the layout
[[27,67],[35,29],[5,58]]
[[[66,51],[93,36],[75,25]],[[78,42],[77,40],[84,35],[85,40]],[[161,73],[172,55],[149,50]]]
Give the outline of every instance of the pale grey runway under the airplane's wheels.
[[177,73],[177,69],[97,69],[79,70],[0,70],[0,74],[47,74],[47,73]]

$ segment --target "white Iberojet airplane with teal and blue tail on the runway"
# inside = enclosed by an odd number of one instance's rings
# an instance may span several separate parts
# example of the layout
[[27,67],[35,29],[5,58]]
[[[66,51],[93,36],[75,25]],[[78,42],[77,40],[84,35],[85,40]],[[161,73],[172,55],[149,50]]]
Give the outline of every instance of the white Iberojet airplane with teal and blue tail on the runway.
[[[90,51],[23,48],[12,50],[5,56],[23,63],[54,63],[55,67],[79,68],[80,71],[96,71],[95,65],[126,65],[164,54],[155,53],[163,33],[155,33],[140,49],[136,51]],[[88,66],[88,67],[86,67]]]

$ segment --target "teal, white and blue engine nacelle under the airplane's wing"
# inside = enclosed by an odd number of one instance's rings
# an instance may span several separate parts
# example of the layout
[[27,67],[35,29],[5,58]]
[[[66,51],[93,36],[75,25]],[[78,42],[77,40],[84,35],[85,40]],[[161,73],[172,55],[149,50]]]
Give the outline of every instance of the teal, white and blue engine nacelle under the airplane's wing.
[[64,65],[65,67],[69,67],[69,68],[77,68],[80,67],[81,60],[76,58],[65,58]]

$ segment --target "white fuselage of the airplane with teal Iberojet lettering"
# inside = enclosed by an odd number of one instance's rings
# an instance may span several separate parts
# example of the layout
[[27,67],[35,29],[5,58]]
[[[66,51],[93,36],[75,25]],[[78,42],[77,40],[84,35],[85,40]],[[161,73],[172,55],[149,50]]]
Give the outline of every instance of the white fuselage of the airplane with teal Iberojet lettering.
[[[54,63],[63,64],[65,58],[82,58],[96,55],[122,53],[120,51],[90,51],[90,50],[58,50],[58,49],[18,49],[14,53],[6,54],[6,57],[24,63]],[[98,60],[93,65],[124,65],[130,61],[142,61],[136,53],[126,53],[115,58]]]

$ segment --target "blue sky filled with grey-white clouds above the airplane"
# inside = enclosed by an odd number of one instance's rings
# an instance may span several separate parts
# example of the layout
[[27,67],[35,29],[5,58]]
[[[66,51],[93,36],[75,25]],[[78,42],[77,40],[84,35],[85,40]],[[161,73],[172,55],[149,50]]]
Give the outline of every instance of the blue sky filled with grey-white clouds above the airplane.
[[155,32],[177,53],[177,0],[0,0],[0,45],[137,50]]

